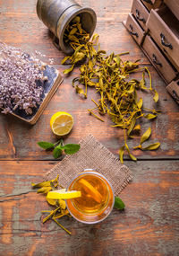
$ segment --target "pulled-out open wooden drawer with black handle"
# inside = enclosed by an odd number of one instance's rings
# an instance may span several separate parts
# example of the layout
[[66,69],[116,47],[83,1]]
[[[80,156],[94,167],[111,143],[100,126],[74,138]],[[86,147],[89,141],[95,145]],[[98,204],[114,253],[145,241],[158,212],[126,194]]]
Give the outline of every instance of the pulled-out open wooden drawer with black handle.
[[179,21],[175,15],[166,6],[151,10],[147,26],[160,49],[179,66]]

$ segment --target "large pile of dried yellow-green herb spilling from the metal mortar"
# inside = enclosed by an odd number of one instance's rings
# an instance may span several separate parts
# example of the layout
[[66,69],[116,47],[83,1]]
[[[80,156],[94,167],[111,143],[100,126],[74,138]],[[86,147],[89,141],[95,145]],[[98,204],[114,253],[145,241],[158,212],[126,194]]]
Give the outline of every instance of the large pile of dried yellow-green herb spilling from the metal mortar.
[[[113,127],[123,128],[124,146],[119,150],[120,160],[123,163],[124,150],[126,150],[130,158],[136,161],[137,158],[131,154],[127,145],[127,138],[132,138],[134,131],[141,130],[140,124],[137,124],[139,119],[156,119],[159,113],[157,110],[144,108],[143,99],[139,98],[138,92],[150,92],[154,102],[158,102],[158,92],[152,88],[148,67],[139,67],[139,60],[123,61],[121,56],[127,53],[107,55],[106,51],[100,49],[98,34],[95,34],[91,40],[89,38],[90,35],[81,28],[80,17],[76,17],[65,32],[65,42],[71,45],[74,52],[72,56],[64,57],[62,61],[62,64],[71,66],[64,70],[64,74],[69,74],[74,66],[81,64],[81,60],[84,61],[80,66],[80,75],[72,80],[72,86],[76,93],[84,96],[85,99],[88,86],[96,89],[100,99],[98,102],[92,100],[95,108],[88,110],[90,115],[104,121],[98,114],[102,116],[108,114],[115,123]],[[134,72],[142,72],[141,81],[131,79],[130,75]],[[145,81],[146,74],[149,75],[149,86]],[[95,111],[98,111],[98,114]],[[159,143],[142,149],[153,150],[158,146]],[[141,149],[141,146],[135,148]]]

